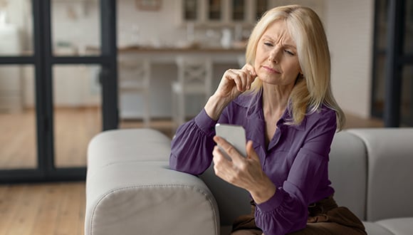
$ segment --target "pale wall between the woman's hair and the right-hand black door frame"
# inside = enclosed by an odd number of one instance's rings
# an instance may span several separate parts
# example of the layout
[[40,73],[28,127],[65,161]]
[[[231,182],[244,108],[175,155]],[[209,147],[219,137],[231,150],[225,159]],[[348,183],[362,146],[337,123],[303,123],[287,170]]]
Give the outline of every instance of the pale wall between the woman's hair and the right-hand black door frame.
[[346,113],[370,117],[374,0],[325,1],[333,93]]

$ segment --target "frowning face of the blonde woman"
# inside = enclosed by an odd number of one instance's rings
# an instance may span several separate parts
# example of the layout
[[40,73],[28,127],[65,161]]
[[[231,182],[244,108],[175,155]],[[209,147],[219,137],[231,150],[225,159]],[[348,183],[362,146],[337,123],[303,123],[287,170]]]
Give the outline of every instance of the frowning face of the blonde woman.
[[254,66],[263,83],[288,86],[296,82],[300,63],[286,22],[275,21],[264,31],[258,41]]

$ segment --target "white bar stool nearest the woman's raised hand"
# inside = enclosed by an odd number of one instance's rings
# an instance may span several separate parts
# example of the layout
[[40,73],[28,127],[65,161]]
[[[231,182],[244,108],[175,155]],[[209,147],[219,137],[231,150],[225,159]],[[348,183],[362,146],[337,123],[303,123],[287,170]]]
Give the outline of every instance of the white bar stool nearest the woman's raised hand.
[[211,95],[212,61],[210,58],[177,56],[178,79],[172,82],[172,122],[174,129],[185,122],[185,96]]

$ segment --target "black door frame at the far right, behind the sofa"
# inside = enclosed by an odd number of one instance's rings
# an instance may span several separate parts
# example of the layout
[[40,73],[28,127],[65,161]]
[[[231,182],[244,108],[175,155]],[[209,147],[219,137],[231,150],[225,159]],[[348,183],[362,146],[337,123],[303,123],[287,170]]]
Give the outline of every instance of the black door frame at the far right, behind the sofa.
[[[375,1],[375,42],[373,49],[372,66],[372,96],[371,114],[373,117],[383,118],[385,127],[399,127],[401,125],[401,92],[402,70],[404,66],[413,64],[413,54],[404,53],[406,0],[387,0],[387,45],[385,50],[378,47],[379,25],[378,16],[380,0]],[[383,16],[381,16],[383,17]],[[382,73],[382,68],[377,66],[380,56],[385,56],[385,97],[384,107],[376,108],[377,73]],[[413,101],[413,100],[412,100]],[[411,125],[410,123],[406,123]]]

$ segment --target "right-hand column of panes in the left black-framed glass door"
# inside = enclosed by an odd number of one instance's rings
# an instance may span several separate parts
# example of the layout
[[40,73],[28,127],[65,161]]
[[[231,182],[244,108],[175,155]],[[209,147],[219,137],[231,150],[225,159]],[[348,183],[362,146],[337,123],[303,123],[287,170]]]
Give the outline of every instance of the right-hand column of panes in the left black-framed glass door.
[[85,167],[88,142],[102,130],[102,66],[83,61],[101,54],[100,19],[99,1],[51,1],[51,52],[61,60],[51,70],[58,168]]

